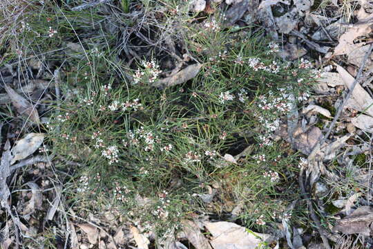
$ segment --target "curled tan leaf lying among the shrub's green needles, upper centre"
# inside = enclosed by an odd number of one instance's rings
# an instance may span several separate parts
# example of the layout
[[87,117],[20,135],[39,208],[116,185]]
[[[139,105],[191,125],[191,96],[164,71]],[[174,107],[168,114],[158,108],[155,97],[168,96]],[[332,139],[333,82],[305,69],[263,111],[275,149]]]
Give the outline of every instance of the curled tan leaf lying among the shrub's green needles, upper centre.
[[193,79],[193,77],[197,76],[198,72],[200,72],[201,67],[202,67],[202,64],[193,64],[193,65],[187,66],[186,68],[182,69],[178,73],[175,73],[175,75],[166,77],[162,80],[158,80],[157,82],[153,84],[153,86],[165,88],[169,86],[175,86],[177,84],[182,84],[184,82],[187,82],[188,80]]

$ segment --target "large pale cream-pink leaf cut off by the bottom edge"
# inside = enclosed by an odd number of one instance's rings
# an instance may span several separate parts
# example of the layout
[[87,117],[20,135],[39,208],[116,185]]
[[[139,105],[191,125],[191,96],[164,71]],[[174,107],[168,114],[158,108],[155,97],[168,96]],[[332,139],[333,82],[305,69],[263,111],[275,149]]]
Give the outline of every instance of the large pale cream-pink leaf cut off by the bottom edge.
[[247,228],[227,221],[204,222],[203,225],[213,236],[210,243],[214,249],[255,249],[260,243],[272,240],[269,234],[248,232]]

